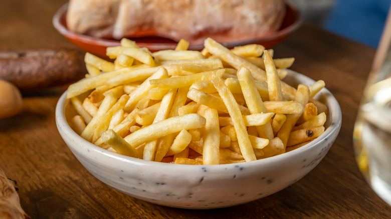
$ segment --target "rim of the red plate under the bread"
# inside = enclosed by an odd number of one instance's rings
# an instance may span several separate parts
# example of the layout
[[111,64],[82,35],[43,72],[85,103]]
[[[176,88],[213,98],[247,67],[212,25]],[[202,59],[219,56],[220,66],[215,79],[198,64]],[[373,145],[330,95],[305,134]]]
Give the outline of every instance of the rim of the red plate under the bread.
[[[68,4],[69,4],[69,2],[66,2],[65,4],[63,4],[56,11],[56,13],[54,14],[54,16],[52,18],[53,26],[62,35],[66,36],[68,38],[72,38],[72,39],[77,38],[77,40],[88,43],[88,44],[96,44],[96,45],[100,45],[100,46],[118,46],[120,44],[119,40],[97,38],[97,37],[92,37],[89,35],[79,34],[79,33],[75,33],[75,32],[70,31],[61,22],[62,17],[66,15],[66,12],[68,10]],[[274,38],[280,38],[280,37],[288,34],[289,32],[293,32],[295,29],[297,29],[299,26],[301,26],[301,24],[304,22],[304,17],[302,16],[301,11],[297,7],[295,7],[294,5],[292,5],[291,3],[288,3],[288,2],[285,2],[285,4],[286,4],[287,9],[289,8],[294,12],[294,20],[288,26],[275,31],[272,34],[268,34],[268,35],[265,35],[262,37],[250,38],[250,39],[245,39],[245,40],[240,40],[240,41],[222,42],[222,44],[226,47],[233,47],[233,46],[237,46],[240,44],[252,44],[252,43],[256,43],[257,41],[260,41],[260,40],[269,41]],[[285,18],[285,16],[286,16],[286,14],[284,15],[284,18]],[[137,42],[137,44],[140,47],[153,46],[153,49],[155,49],[155,50],[167,49],[169,47],[176,45],[176,43],[149,43],[149,42]],[[191,49],[191,50],[200,50],[203,48],[204,48],[203,43],[189,45],[189,49]]]

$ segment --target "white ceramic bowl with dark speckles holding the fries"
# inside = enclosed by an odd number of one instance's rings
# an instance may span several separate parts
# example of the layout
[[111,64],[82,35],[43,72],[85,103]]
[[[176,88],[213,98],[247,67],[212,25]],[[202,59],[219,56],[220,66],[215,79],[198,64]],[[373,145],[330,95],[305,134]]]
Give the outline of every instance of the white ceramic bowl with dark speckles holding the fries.
[[[310,85],[307,76],[289,71],[286,82]],[[79,161],[99,180],[133,197],[180,208],[218,208],[253,201],[295,183],[326,155],[341,126],[337,100],[325,88],[315,96],[329,108],[325,132],[312,142],[261,160],[220,165],[181,165],[146,161],[102,149],[80,137],[67,123],[73,109],[61,96],[58,130]],[[320,185],[319,185],[320,186]]]

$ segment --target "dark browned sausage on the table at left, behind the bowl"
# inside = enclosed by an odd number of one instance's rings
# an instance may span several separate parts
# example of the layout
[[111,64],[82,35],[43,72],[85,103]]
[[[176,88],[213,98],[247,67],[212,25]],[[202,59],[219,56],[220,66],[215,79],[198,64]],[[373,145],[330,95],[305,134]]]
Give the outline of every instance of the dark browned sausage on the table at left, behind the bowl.
[[87,73],[83,58],[70,48],[0,52],[0,79],[22,91],[63,85]]

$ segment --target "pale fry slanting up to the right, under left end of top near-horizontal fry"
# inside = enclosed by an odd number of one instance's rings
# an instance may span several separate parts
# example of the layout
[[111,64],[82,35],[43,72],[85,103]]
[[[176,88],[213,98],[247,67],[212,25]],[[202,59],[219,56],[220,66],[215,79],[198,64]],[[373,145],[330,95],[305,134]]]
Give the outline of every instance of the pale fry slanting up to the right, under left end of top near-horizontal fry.
[[161,67],[154,74],[145,79],[140,86],[130,93],[130,98],[124,107],[124,111],[131,111],[137,102],[148,94],[148,90],[154,87],[149,83],[150,80],[164,77],[168,77],[167,70],[164,67]]

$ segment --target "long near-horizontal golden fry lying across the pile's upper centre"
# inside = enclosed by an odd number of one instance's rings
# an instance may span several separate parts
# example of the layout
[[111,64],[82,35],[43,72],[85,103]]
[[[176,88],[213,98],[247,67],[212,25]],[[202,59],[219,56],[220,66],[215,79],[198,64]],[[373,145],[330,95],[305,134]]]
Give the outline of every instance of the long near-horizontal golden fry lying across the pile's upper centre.
[[169,78],[160,78],[160,79],[151,79],[151,85],[157,85],[161,88],[170,89],[170,88],[178,88],[183,86],[190,86],[195,81],[200,80],[211,80],[215,77],[221,77],[224,73],[224,69],[207,71],[203,73],[189,74],[177,77],[169,77]]

